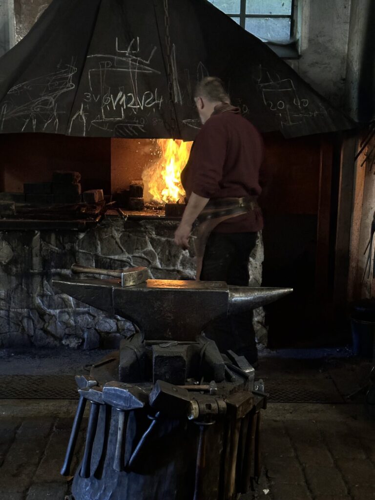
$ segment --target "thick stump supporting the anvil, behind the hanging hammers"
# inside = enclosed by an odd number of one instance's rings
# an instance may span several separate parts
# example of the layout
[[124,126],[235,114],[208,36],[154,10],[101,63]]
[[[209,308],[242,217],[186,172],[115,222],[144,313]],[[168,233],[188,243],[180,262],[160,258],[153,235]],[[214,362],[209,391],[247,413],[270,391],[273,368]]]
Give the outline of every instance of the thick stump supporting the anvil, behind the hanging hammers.
[[[115,380],[119,360],[119,352],[107,355],[91,368],[90,377],[101,387]],[[73,479],[74,500],[234,500],[246,493],[259,475],[259,410],[265,397],[252,392],[253,380],[232,378],[217,383],[216,394],[194,391],[204,405],[225,401],[226,411],[213,418],[189,420],[160,412],[147,435],[155,411],[148,405],[129,411],[121,430],[121,470],[114,467],[119,412],[101,404],[88,474],[82,474],[81,463]],[[149,392],[153,384],[139,386]]]

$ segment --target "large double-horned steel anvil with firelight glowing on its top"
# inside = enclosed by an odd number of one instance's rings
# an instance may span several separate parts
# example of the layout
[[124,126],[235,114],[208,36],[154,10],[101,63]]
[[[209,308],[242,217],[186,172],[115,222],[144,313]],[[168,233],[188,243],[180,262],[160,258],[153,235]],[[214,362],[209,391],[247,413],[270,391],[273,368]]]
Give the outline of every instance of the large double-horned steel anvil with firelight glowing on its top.
[[292,288],[229,286],[223,281],[55,279],[63,293],[137,325],[145,340],[194,341],[210,321],[255,309]]

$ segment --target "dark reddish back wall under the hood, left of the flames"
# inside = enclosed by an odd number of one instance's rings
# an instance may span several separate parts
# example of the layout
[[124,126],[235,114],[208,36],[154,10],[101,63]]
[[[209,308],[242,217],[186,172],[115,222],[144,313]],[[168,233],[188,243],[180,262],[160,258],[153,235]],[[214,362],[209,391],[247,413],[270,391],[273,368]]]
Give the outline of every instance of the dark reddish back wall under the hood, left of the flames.
[[22,192],[23,182],[47,182],[54,170],[75,170],[83,190],[110,194],[109,138],[0,134],[0,150],[0,191]]

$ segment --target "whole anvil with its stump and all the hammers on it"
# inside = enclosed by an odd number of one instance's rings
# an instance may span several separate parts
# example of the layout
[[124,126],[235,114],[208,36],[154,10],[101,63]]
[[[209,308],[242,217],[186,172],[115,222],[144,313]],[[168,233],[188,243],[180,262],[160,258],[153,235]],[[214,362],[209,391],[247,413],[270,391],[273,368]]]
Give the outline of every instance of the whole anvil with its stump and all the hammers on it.
[[55,279],[53,285],[138,329],[92,365],[89,378],[76,376],[80,399],[63,475],[87,400],[90,413],[74,500],[234,500],[246,493],[259,476],[266,394],[254,390],[245,357],[219,352],[204,327],[292,290],[146,279],[144,268],[73,270],[116,279]]

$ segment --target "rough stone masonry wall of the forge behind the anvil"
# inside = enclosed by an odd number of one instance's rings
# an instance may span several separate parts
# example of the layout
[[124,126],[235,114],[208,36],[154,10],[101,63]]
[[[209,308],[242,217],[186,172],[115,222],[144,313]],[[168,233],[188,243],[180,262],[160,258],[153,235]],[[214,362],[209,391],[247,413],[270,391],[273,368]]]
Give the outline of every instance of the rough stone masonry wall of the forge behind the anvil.
[[[133,325],[59,293],[51,280],[71,276],[74,262],[109,269],[144,265],[153,278],[193,278],[193,257],[173,243],[176,226],[107,217],[85,233],[0,232],[0,347],[117,347]],[[253,285],[260,284],[262,260],[259,239],[249,264]],[[256,329],[258,340],[266,343],[262,321],[260,309]]]

